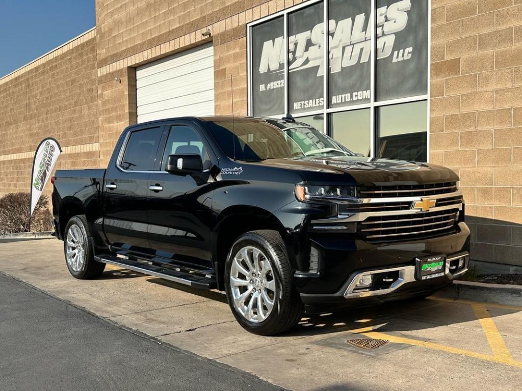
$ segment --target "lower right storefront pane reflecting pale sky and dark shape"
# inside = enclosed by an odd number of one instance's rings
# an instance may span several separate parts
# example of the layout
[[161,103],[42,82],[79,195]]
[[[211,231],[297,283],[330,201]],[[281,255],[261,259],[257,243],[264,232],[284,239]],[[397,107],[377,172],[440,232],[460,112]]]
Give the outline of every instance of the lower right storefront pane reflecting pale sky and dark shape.
[[426,101],[378,108],[377,157],[426,161]]

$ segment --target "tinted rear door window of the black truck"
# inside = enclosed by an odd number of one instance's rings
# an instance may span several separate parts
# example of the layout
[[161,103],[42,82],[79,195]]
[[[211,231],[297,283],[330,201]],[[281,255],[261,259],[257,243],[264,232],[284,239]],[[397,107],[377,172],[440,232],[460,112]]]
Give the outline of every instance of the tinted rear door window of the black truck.
[[161,128],[136,130],[131,133],[120,166],[126,170],[151,171],[161,139]]

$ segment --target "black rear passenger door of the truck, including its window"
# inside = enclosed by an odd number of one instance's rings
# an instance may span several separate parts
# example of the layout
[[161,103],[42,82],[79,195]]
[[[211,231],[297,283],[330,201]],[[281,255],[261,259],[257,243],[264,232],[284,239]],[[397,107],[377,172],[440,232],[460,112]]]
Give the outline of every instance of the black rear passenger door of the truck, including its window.
[[156,155],[163,124],[133,128],[104,180],[105,235],[112,246],[149,253],[148,181],[159,167]]

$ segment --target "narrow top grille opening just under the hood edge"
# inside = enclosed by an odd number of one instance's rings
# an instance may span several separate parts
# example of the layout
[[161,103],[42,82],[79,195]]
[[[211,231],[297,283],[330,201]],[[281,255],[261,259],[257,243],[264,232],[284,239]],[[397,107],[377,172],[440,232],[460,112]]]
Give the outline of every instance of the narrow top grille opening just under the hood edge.
[[358,196],[361,198],[426,197],[453,193],[456,190],[456,182],[426,185],[361,186],[357,189]]

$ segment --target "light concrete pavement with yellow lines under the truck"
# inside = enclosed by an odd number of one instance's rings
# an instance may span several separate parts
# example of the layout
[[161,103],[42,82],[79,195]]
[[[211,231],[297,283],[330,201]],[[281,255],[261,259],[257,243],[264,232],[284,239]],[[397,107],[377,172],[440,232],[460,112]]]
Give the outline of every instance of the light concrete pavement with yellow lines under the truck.
[[[76,280],[56,239],[0,244],[0,272],[287,389],[519,390],[522,382],[519,307],[431,297],[304,317],[291,333],[260,337],[235,322],[221,292],[115,267],[100,279]],[[386,343],[373,350],[347,343],[359,338]]]

